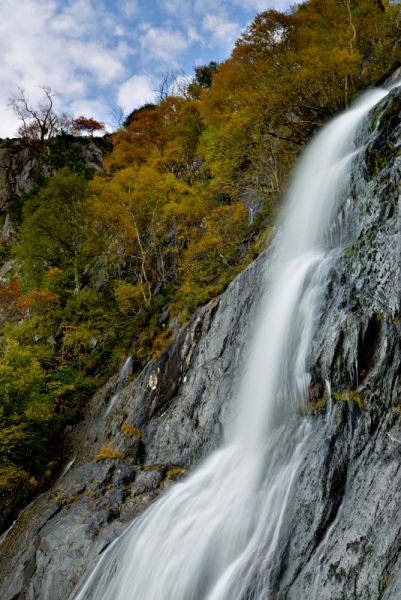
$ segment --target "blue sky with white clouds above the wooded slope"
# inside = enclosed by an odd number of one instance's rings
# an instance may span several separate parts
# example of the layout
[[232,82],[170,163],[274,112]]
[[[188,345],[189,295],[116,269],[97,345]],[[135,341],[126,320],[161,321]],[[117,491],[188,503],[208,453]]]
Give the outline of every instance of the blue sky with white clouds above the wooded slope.
[[33,104],[41,86],[56,112],[115,127],[152,101],[166,73],[230,55],[255,15],[288,0],[0,0],[0,137],[18,120],[8,100],[23,88]]

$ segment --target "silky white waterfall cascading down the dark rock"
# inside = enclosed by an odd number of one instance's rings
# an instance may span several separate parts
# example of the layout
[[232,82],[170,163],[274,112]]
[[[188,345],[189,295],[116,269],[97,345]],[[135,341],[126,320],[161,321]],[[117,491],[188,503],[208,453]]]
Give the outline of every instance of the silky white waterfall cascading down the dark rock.
[[369,92],[332,121],[299,163],[230,441],[131,524],[76,600],[274,596],[280,531],[310,429],[293,413],[305,399],[316,313],[341,240],[338,201],[356,129],[386,93]]

